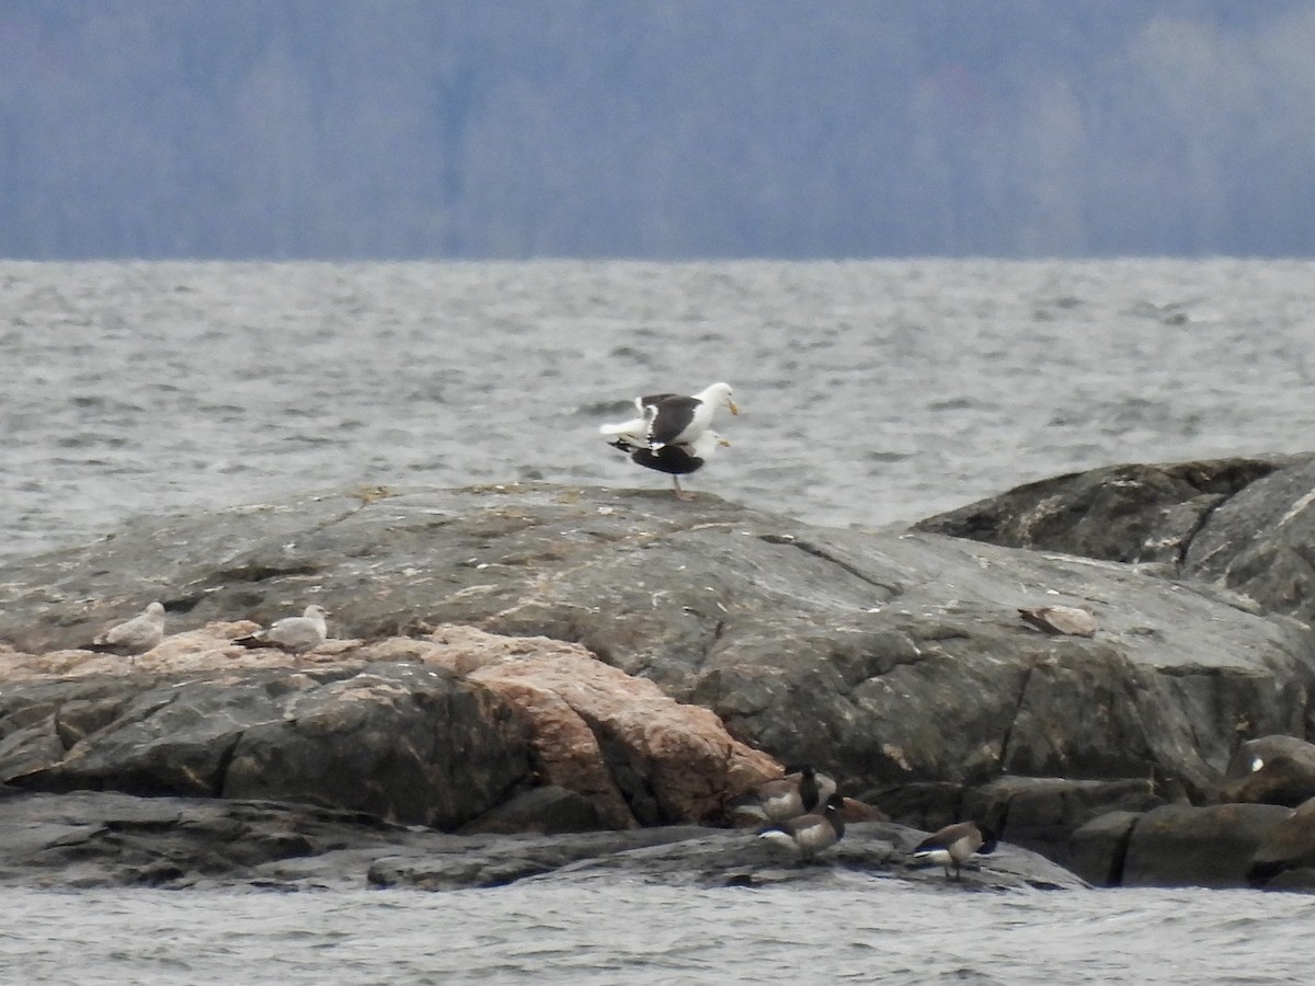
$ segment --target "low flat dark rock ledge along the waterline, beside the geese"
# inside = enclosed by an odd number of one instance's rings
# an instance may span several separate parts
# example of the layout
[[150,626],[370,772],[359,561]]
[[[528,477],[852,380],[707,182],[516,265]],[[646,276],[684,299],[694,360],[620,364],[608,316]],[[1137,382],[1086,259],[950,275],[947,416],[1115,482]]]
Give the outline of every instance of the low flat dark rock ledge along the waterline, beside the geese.
[[[547,789],[540,789],[547,790]],[[965,868],[963,886],[914,864],[924,833],[859,823],[810,865],[753,832],[665,826],[569,835],[446,835],[304,805],[0,789],[0,886],[501,886],[519,880],[642,878],[679,886],[827,883],[856,877],[947,890],[1085,883],[1010,845]]]

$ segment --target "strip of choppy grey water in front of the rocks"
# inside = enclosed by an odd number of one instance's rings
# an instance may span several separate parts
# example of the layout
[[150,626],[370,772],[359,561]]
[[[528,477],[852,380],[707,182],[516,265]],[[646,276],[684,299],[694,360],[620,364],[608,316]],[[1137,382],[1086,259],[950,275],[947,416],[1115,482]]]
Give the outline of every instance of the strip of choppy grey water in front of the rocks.
[[1315,899],[1181,890],[0,891],[24,983],[1304,983]]

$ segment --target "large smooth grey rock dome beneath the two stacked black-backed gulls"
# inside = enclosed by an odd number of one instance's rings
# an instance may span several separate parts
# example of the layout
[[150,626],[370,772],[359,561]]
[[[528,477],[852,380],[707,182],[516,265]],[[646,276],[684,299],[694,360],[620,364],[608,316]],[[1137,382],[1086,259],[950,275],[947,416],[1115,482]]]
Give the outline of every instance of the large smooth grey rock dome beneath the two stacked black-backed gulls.
[[[1274,468],[1233,460],[1198,485],[1222,493]],[[1239,741],[1303,734],[1315,669],[1295,621],[1126,564],[815,528],[702,494],[686,504],[665,490],[546,484],[302,497],[133,523],[0,571],[0,639],[70,647],[150,598],[184,632],[316,601],[338,638],[423,639],[458,623],[580,643],[713,711],[735,740],[819,765],[847,793],[1149,773],[1208,799]],[[1018,617],[1039,603],[1090,606],[1099,630],[1043,634]],[[514,688],[522,714],[539,701],[533,681]],[[644,802],[655,774],[618,773],[626,756],[608,736],[619,723],[580,718],[634,818],[669,820],[656,793]]]

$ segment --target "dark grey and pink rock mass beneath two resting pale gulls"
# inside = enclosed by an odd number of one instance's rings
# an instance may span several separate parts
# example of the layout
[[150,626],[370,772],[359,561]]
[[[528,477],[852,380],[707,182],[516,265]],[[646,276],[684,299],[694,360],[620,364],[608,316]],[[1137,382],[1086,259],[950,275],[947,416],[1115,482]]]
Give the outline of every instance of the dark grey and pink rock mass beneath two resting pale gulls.
[[[781,770],[706,709],[577,644],[447,627],[256,660],[230,643],[245,627],[208,624],[188,635],[192,649],[170,642],[117,674],[85,652],[11,653],[0,781],[560,831],[718,819],[729,791]],[[531,785],[583,803],[531,797]]]

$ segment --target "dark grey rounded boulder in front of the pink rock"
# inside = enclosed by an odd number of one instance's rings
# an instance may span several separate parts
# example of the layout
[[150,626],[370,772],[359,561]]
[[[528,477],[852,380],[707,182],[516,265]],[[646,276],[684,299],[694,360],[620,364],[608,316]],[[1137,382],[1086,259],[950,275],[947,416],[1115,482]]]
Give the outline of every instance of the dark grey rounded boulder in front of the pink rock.
[[[50,709],[0,727],[0,781],[26,790],[281,799],[451,828],[530,782],[514,710],[451,672],[414,665],[208,670],[183,680],[41,682]],[[25,689],[5,689],[21,709]],[[70,707],[66,707],[70,706]],[[95,728],[92,728],[95,727]]]

